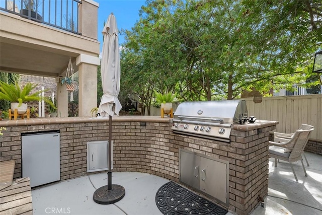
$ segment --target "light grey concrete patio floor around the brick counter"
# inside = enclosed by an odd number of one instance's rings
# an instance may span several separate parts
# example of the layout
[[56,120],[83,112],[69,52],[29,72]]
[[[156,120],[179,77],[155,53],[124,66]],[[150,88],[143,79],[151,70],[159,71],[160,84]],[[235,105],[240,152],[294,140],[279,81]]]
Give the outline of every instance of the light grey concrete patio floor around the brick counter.
[[[305,153],[309,167],[307,177],[300,162],[291,167],[281,161],[269,161],[269,190],[265,207],[258,206],[251,214],[322,214],[322,156]],[[305,164],[305,161],[304,161]],[[113,172],[112,184],[125,188],[122,200],[109,205],[93,201],[94,191],[107,184],[107,174],[99,173],[65,180],[32,189],[34,214],[162,214],[155,204],[156,191],[169,180],[138,172]],[[231,213],[227,213],[231,214]]]

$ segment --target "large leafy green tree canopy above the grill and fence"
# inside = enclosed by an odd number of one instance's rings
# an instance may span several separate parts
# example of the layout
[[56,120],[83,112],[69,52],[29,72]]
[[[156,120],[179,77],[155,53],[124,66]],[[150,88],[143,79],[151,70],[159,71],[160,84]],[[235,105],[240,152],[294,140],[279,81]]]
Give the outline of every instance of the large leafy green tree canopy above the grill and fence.
[[322,8],[307,3],[148,0],[123,32],[121,89],[148,107],[151,89],[214,100],[303,86],[322,48]]

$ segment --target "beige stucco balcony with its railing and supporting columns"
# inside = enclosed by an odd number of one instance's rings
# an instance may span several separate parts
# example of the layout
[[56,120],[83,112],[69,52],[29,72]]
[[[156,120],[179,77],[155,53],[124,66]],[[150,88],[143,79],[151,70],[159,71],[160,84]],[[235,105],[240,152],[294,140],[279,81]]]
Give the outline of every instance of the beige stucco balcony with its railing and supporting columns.
[[[64,77],[71,58],[79,77],[79,116],[96,107],[99,5],[93,0],[0,1],[0,70]],[[57,85],[58,110],[67,116],[68,93]]]

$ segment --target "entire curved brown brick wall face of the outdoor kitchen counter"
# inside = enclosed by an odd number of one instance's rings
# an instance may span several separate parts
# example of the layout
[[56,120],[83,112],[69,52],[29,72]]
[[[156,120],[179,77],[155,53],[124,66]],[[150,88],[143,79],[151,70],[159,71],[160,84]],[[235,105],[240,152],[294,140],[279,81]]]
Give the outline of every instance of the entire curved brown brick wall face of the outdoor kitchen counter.
[[[1,160],[16,160],[21,177],[21,133],[60,130],[61,180],[87,173],[87,142],[108,139],[107,122],[9,126],[1,138]],[[231,142],[175,134],[169,123],[113,122],[114,171],[138,171],[179,182],[179,148],[229,161],[229,206],[247,214],[268,192],[268,140],[275,125],[231,132]],[[8,132],[9,131],[9,132]],[[222,205],[226,207],[226,205]]]

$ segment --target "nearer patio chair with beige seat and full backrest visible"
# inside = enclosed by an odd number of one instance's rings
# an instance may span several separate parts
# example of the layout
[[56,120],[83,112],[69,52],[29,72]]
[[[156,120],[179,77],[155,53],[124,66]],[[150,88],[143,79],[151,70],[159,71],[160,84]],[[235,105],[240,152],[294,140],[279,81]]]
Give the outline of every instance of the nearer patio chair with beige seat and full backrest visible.
[[[277,159],[288,161],[291,165],[296,181],[298,180],[292,163],[300,160],[304,174],[307,176],[301,154],[303,153],[308,136],[312,130],[314,130],[314,128],[308,130],[297,130],[290,139],[284,139],[283,142],[269,141],[269,157],[275,159],[275,167],[277,167]],[[285,152],[284,149],[288,149],[290,152]]]

